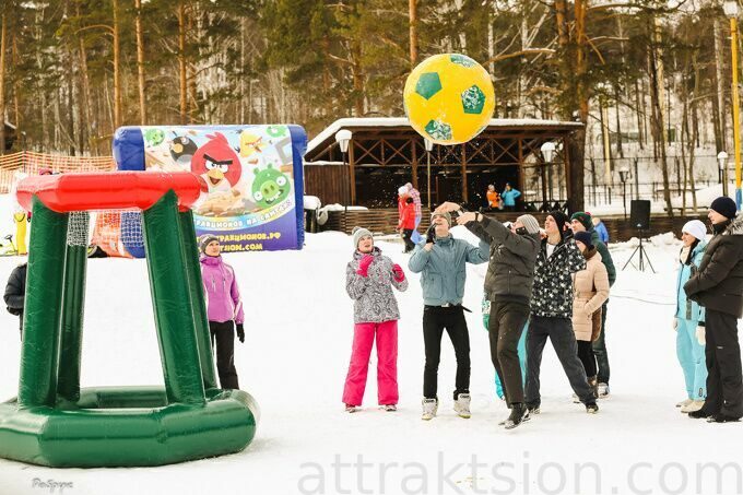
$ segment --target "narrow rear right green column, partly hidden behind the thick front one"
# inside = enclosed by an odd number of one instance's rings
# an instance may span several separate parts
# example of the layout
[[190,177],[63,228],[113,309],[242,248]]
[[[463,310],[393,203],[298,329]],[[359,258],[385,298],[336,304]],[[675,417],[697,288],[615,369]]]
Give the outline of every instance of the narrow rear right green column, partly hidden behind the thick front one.
[[193,326],[201,360],[201,374],[204,379],[204,388],[216,388],[216,373],[212,357],[212,342],[209,334],[209,318],[201,281],[201,263],[199,262],[199,247],[196,243],[193,213],[188,210],[178,213],[178,217],[180,219],[180,236],[184,239],[184,252],[186,255],[184,262],[188,271],[188,287],[191,293],[191,308],[193,309]]

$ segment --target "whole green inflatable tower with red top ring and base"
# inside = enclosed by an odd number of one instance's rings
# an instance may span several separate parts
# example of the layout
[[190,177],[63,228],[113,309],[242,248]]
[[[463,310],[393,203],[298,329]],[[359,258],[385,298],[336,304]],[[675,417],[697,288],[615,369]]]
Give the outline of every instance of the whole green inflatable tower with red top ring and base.
[[[24,179],[33,209],[17,397],[0,403],[0,457],[49,467],[161,465],[238,452],[259,409],[216,387],[190,173]],[[87,211],[140,209],[165,387],[80,388]],[[86,226],[85,226],[86,228]]]

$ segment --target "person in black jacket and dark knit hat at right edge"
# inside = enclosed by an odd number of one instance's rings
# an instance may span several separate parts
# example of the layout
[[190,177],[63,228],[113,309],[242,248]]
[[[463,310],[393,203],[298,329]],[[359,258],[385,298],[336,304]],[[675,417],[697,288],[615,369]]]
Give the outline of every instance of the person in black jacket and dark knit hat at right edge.
[[715,236],[699,270],[684,284],[686,296],[705,307],[707,398],[689,417],[727,423],[743,417],[743,376],[738,319],[743,316],[743,216],[728,197],[712,201]]

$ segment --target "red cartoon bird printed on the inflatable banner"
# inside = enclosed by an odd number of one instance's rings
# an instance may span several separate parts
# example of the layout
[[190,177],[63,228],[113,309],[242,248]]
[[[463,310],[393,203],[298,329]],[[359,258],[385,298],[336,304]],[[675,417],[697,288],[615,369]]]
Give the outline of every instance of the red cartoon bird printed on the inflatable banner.
[[191,172],[204,180],[204,191],[229,192],[243,175],[240,158],[224,134],[214,132],[207,138],[209,141],[191,158]]

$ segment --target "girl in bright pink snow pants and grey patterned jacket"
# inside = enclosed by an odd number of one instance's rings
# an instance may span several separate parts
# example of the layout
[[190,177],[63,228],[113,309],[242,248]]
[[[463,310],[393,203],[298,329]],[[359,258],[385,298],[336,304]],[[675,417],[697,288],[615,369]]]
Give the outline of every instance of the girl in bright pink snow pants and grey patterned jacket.
[[358,411],[364,399],[369,356],[376,337],[379,404],[387,411],[396,411],[400,311],[392,287],[405,291],[408,280],[402,268],[374,246],[371,233],[366,228],[354,227],[353,245],[353,259],[345,269],[345,290],[354,299],[355,325],[343,402],[347,412]]

